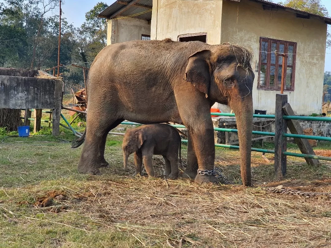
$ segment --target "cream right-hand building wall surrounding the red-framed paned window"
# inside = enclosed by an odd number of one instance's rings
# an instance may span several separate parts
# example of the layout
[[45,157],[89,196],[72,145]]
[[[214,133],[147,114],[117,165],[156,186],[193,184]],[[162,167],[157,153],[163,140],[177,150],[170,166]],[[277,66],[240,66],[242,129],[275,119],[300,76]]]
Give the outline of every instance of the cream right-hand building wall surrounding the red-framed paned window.
[[276,94],[280,94],[257,89],[260,37],[267,37],[297,42],[294,91],[284,91],[294,112],[298,115],[321,112],[327,30],[323,21],[315,17],[297,18],[295,13],[283,10],[270,12],[263,10],[262,4],[241,0],[223,2],[221,25],[221,42],[237,43],[254,52],[254,109],[274,113]]

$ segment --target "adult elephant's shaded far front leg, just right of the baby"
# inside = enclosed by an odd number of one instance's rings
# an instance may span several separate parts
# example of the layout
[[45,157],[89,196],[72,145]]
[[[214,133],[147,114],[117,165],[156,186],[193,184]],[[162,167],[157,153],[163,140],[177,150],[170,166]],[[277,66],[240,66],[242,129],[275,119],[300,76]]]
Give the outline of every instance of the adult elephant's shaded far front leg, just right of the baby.
[[188,129],[187,131],[187,165],[183,173],[183,178],[195,179],[198,171],[198,159],[193,146],[192,132],[190,131],[190,129]]

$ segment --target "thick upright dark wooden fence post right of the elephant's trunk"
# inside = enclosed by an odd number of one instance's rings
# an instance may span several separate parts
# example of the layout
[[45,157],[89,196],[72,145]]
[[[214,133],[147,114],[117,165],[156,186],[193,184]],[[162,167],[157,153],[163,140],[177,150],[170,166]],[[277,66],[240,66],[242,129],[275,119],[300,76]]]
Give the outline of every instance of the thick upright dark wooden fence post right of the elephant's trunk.
[[275,176],[279,179],[286,175],[286,155],[283,155],[283,151],[287,149],[287,139],[282,135],[282,133],[287,133],[287,122],[283,119],[285,103],[287,103],[287,95],[276,94],[274,169]]

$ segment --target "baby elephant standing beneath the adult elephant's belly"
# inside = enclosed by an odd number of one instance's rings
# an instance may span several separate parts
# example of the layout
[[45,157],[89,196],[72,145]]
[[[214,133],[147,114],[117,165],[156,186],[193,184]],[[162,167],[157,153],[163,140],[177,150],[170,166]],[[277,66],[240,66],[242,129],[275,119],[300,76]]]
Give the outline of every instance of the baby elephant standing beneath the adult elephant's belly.
[[137,128],[127,129],[123,144],[124,170],[127,168],[127,159],[134,153],[135,173],[141,174],[144,161],[145,170],[149,177],[154,177],[153,154],[162,155],[165,159],[164,176],[178,177],[178,150],[180,158],[181,138],[177,130],[167,124],[142,125]]

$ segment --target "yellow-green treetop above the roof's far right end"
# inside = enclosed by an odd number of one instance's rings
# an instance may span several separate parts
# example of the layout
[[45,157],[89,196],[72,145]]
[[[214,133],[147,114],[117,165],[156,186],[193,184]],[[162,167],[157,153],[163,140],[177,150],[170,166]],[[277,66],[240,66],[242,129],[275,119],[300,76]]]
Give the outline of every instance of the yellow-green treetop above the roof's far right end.
[[[285,2],[279,2],[278,4],[290,7],[293,9],[309,12],[314,15],[328,17],[329,13],[325,6],[321,3],[321,0],[286,0]],[[327,32],[326,47],[331,46],[331,34]]]

